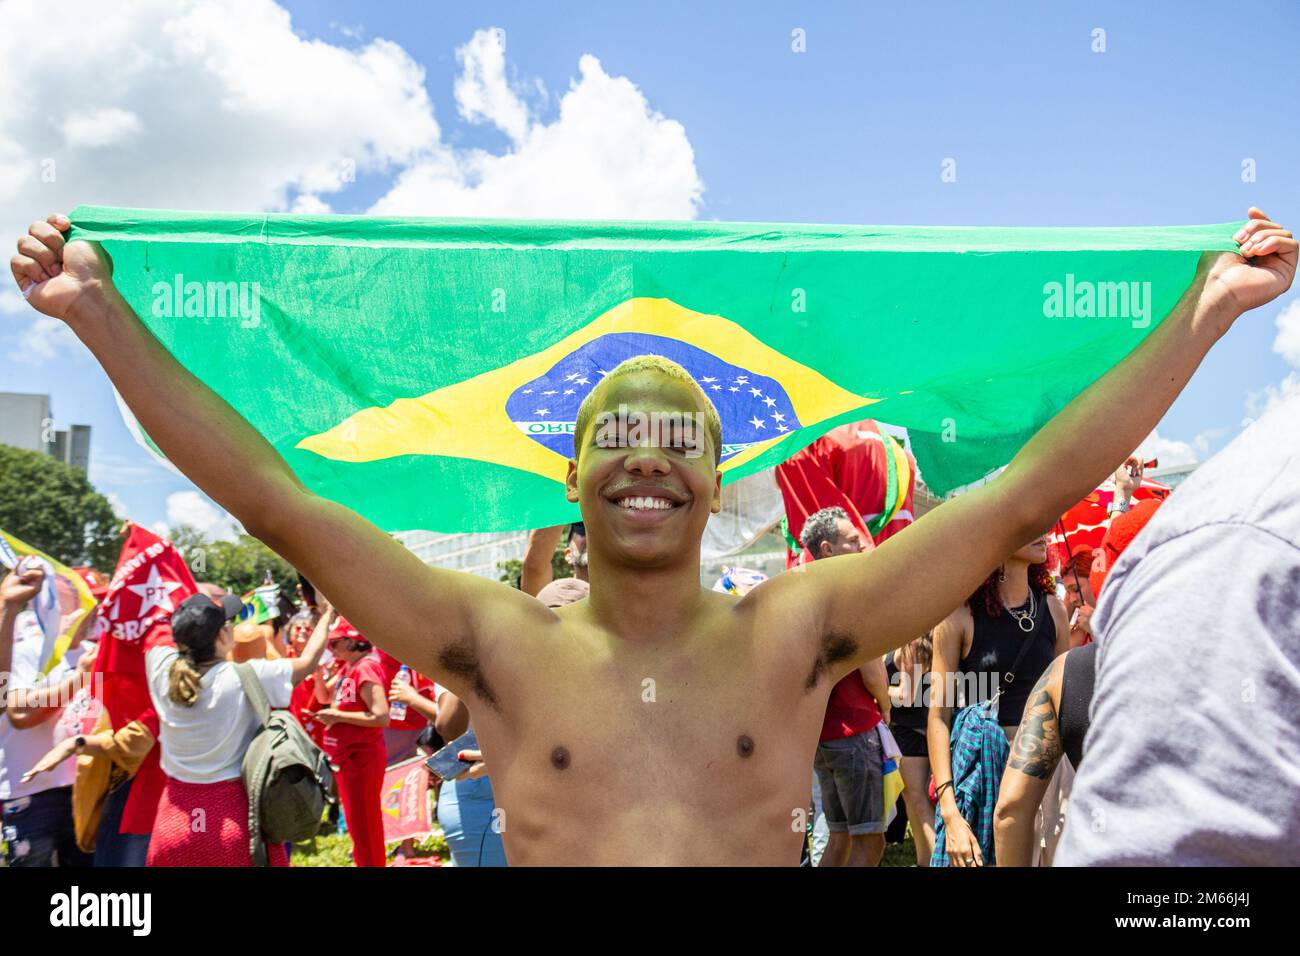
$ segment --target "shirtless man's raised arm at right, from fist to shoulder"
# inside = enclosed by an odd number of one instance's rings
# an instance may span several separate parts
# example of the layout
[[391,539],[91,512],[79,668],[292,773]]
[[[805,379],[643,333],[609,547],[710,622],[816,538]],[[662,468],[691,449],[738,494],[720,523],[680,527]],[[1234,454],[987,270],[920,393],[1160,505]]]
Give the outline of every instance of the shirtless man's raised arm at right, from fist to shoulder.
[[1291,286],[1295,238],[1258,209],[1249,216],[1234,237],[1240,255],[1205,254],[1165,321],[1048,421],[994,481],[945,502],[870,554],[805,570],[820,615],[811,631],[853,645],[836,656],[836,679],[923,633],[1050,528],[1150,434],[1236,317]]

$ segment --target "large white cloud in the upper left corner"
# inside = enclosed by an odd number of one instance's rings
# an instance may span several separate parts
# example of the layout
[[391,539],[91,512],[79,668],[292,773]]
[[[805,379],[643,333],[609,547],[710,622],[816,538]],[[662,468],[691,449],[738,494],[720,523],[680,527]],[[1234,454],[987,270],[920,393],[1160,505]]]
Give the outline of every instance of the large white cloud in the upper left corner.
[[424,69],[398,44],[304,39],[272,0],[5,9],[6,237],[78,202],[283,209],[438,135]]

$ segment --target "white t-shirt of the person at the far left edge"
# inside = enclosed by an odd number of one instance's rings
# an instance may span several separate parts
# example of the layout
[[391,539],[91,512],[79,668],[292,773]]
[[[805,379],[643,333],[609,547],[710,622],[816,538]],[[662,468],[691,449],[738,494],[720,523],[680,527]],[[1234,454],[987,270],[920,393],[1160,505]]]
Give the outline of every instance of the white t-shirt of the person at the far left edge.
[[[30,617],[29,617],[30,615]],[[40,676],[40,648],[44,643],[35,615],[23,610],[14,624],[13,670],[9,674],[8,691],[30,691],[40,687],[56,687],[73,671],[81,657],[81,648],[69,652],[49,674]],[[65,760],[49,773],[40,774],[27,783],[18,783],[22,775],[35,766],[55,747],[79,731],[61,724],[57,715],[42,721],[35,727],[18,730],[9,715],[0,717],[0,800],[40,793],[55,787],[72,787],[77,777],[77,761]]]

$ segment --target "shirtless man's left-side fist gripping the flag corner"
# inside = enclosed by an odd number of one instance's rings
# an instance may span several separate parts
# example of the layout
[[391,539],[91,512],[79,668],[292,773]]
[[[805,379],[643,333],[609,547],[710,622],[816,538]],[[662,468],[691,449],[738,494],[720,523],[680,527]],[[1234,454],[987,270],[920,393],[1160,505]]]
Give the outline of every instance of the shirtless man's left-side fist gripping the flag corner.
[[112,284],[113,263],[98,242],[65,245],[72,221],[55,213],[18,239],[9,269],[31,307],[68,321],[87,297]]

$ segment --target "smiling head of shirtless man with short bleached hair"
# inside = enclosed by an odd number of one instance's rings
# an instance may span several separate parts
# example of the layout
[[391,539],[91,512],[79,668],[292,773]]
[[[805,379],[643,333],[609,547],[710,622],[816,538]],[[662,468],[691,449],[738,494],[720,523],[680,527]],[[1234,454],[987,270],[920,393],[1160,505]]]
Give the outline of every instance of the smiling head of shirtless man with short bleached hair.
[[567,497],[582,510],[593,563],[658,567],[693,551],[698,558],[708,515],[722,507],[714,438],[707,428],[694,434],[651,428],[647,436],[634,423],[637,415],[692,421],[707,399],[685,381],[644,369],[606,378],[590,401],[595,421],[575,436],[581,444],[569,462]]

